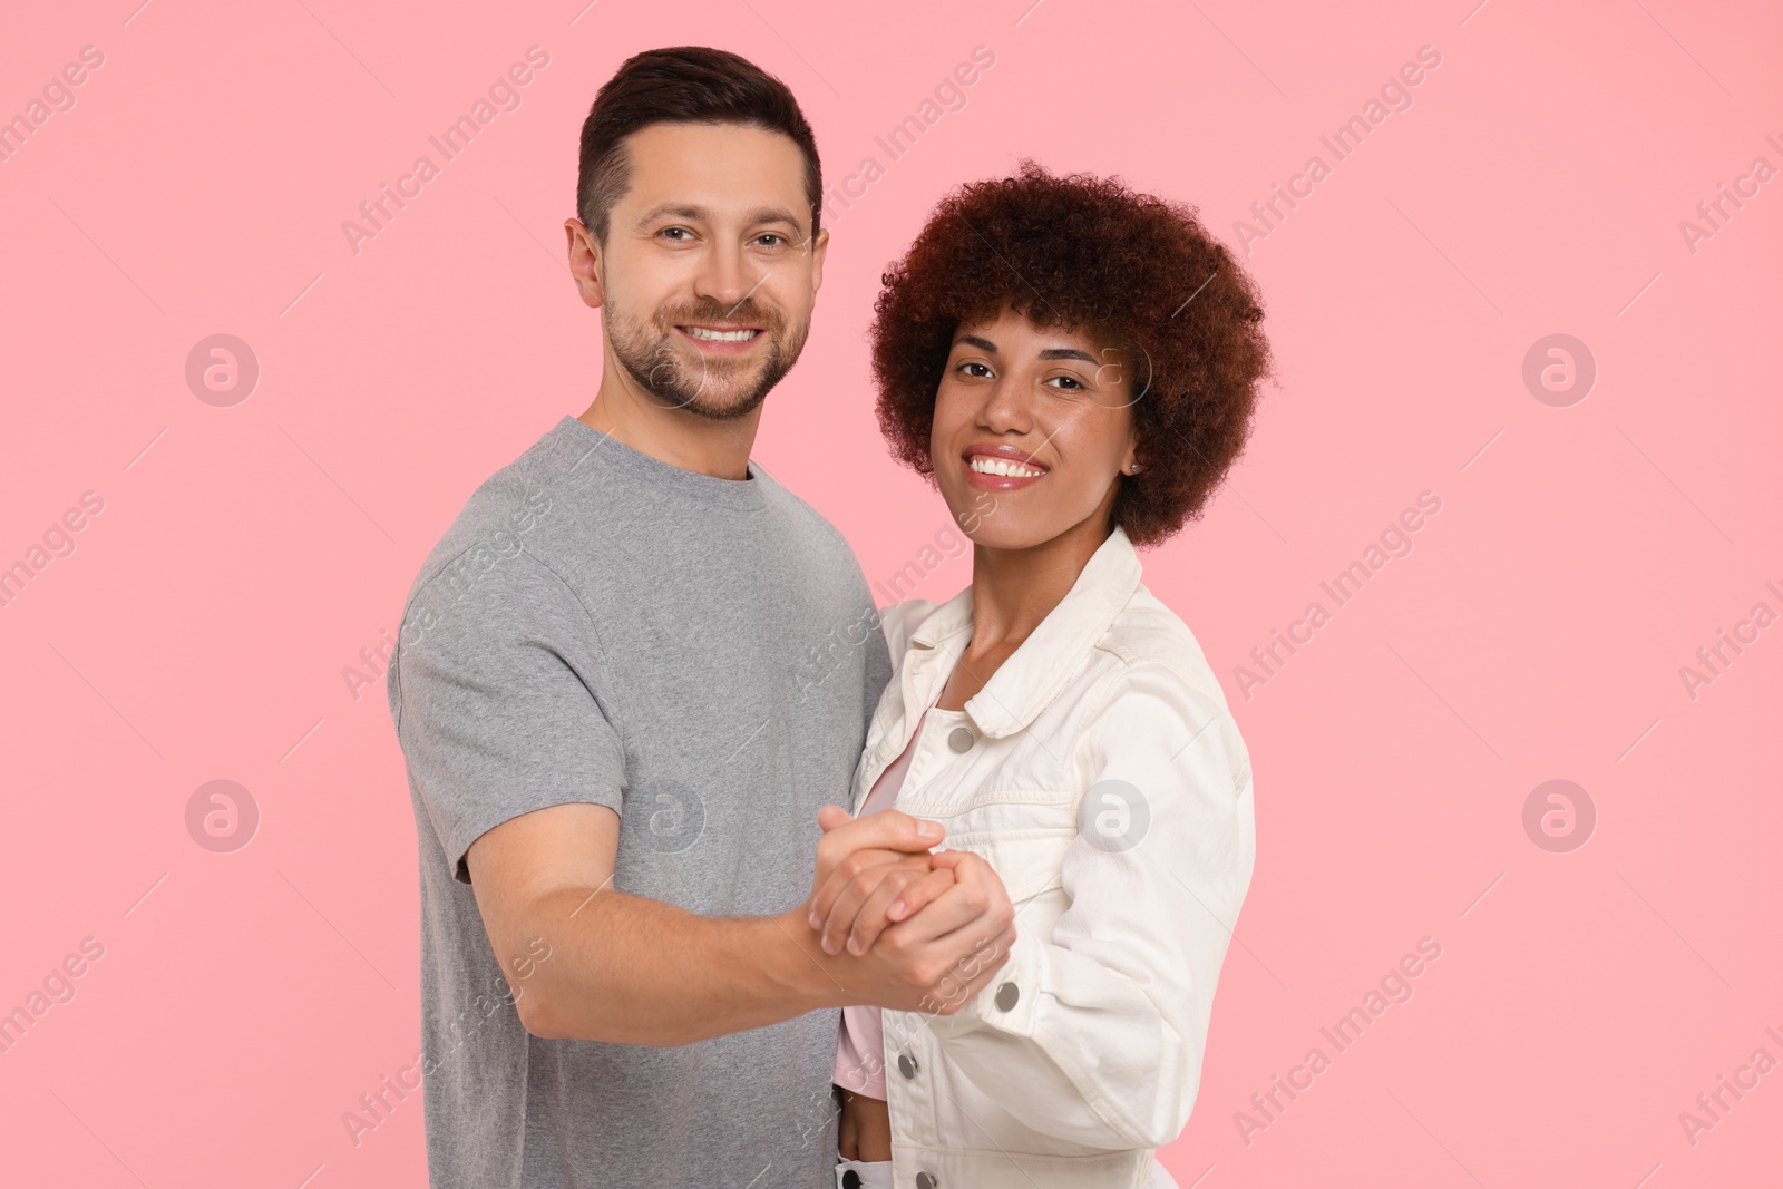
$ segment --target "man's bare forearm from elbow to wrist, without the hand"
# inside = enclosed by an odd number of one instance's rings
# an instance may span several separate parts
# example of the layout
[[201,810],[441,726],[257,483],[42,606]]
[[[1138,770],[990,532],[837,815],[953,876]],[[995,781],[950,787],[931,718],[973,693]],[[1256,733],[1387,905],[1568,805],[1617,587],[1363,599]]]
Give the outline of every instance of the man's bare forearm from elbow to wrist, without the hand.
[[686,1045],[852,1002],[801,913],[706,918],[612,888],[531,907],[503,964],[535,1036]]

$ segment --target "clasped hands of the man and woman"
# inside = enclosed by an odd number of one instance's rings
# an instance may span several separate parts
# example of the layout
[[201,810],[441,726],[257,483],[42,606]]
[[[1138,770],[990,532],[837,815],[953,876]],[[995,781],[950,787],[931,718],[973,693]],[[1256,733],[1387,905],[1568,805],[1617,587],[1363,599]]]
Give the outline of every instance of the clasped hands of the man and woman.
[[852,1002],[950,1016],[1009,961],[1015,907],[966,850],[931,850],[945,831],[897,809],[818,816],[817,877],[802,923]]

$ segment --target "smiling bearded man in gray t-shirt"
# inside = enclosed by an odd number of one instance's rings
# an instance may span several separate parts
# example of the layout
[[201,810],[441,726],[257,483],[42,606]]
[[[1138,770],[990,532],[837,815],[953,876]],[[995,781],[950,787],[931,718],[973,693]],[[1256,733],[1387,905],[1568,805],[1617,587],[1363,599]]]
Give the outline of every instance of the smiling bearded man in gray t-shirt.
[[847,544],[749,462],[820,194],[792,93],[733,53],[640,53],[583,125],[594,405],[476,490],[389,668],[435,1187],[833,1184],[833,1009],[950,1013],[1007,952],[975,859],[863,955],[802,902],[940,840],[881,813],[818,847],[890,670]]

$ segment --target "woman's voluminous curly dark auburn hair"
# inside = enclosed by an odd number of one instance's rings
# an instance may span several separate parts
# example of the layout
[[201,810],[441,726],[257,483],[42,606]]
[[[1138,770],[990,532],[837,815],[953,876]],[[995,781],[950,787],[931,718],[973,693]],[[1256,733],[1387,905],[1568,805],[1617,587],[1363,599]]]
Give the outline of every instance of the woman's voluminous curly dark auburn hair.
[[883,283],[870,333],[879,428],[931,481],[934,396],[959,323],[1013,308],[1129,353],[1143,469],[1120,476],[1114,524],[1136,545],[1202,513],[1271,374],[1262,303],[1232,253],[1193,207],[1120,178],[1023,160],[1015,176],[968,182]]

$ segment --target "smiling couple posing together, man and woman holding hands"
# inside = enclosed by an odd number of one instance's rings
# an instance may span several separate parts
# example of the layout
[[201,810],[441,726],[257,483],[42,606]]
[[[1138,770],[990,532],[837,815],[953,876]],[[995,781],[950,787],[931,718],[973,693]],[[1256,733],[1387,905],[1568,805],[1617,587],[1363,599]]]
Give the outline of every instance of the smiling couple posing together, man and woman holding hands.
[[881,613],[749,458],[820,196],[733,53],[640,53],[583,125],[599,389],[471,496],[389,668],[435,1187],[1171,1184],[1252,781],[1134,549],[1243,447],[1262,310],[1118,182],[950,194],[872,365],[972,586]]

